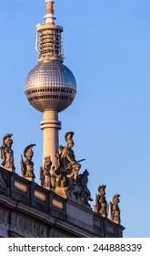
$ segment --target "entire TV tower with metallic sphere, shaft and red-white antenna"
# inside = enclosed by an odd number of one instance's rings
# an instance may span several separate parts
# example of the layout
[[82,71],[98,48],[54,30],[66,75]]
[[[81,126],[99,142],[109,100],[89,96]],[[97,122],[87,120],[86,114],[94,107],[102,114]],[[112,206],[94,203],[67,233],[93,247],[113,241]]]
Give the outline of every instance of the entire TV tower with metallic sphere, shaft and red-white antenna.
[[58,112],[64,111],[75,99],[76,82],[70,69],[64,64],[61,33],[63,27],[55,25],[53,0],[45,0],[45,24],[36,26],[38,64],[25,80],[25,95],[30,104],[44,113],[41,130],[44,131],[44,154],[55,165],[58,151]]

